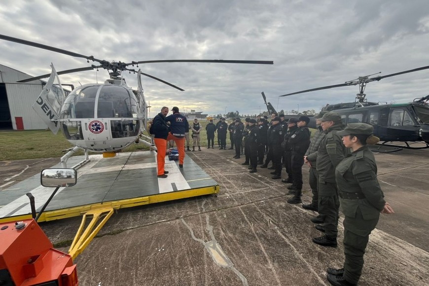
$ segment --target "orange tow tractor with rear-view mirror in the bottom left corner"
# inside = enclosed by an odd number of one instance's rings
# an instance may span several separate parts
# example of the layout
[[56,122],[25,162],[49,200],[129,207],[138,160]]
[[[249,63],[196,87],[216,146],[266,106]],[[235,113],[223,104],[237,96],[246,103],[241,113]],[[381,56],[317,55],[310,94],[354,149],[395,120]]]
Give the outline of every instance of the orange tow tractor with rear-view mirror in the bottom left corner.
[[32,219],[0,224],[0,285],[2,286],[77,286],[76,265],[72,256],[55,250],[37,224],[37,219],[60,187],[76,184],[73,169],[45,169],[41,184],[56,187],[36,215],[34,197],[30,198]]

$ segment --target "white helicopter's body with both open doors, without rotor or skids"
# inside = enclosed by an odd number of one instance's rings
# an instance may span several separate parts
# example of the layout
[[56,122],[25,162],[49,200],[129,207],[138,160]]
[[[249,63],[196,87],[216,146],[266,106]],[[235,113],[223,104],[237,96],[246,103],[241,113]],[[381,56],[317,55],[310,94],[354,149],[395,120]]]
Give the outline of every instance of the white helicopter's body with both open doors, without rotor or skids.
[[116,77],[103,84],[79,86],[67,98],[61,85],[54,84],[56,79],[59,82],[53,69],[33,108],[52,132],[61,128],[73,145],[93,152],[118,151],[135,142],[144,130],[147,106],[140,74],[137,91]]

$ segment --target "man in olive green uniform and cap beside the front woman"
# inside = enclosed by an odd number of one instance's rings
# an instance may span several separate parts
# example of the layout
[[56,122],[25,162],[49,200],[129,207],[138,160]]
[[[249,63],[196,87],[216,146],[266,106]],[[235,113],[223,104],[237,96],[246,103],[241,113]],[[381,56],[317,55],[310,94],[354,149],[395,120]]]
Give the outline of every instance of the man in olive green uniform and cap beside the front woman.
[[313,242],[321,246],[337,247],[338,217],[340,202],[335,182],[335,168],[346,157],[349,150],[341,142],[338,131],[344,129],[341,115],[327,112],[323,115],[322,129],[326,137],[319,146],[317,153],[307,156],[307,160],[317,160],[319,174],[319,214],[324,218],[325,235],[313,238]]

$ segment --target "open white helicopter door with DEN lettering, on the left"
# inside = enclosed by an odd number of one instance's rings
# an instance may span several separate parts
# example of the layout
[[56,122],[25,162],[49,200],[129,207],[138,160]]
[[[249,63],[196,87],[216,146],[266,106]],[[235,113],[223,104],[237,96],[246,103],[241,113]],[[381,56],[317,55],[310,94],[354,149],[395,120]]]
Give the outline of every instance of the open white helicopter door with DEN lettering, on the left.
[[57,134],[60,129],[60,109],[63,105],[65,95],[54,65],[51,64],[51,67],[51,76],[36,102],[33,104],[33,109],[52,133]]

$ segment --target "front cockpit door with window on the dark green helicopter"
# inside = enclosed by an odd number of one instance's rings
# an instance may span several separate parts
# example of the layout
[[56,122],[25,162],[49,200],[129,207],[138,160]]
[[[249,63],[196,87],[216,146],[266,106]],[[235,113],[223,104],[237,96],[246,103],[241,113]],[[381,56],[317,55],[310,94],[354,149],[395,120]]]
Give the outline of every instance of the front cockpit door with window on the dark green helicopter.
[[388,137],[392,141],[418,141],[416,123],[406,108],[391,108],[389,116]]

